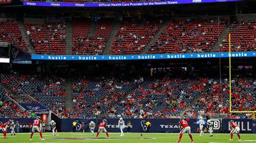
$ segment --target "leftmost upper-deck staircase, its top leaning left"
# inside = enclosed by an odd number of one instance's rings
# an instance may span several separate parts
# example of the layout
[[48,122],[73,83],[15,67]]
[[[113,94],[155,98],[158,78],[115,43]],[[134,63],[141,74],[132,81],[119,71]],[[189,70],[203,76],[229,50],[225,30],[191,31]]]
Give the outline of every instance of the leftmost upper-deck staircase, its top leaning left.
[[22,20],[18,20],[17,24],[19,26],[19,30],[21,30],[21,34],[22,34],[22,37],[25,41],[26,47],[28,47],[28,49],[29,49],[29,54],[36,54],[35,49],[31,45],[29,37],[26,34],[26,28],[24,27],[24,24],[23,24]]

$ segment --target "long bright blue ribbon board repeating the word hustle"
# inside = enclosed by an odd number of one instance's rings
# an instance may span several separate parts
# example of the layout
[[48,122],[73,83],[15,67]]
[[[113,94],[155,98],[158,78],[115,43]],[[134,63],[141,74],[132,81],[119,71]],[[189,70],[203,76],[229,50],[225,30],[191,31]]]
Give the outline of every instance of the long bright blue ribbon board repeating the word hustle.
[[246,58],[255,57],[256,52],[229,53],[180,53],[180,54],[148,54],[148,55],[31,55],[32,60],[157,60],[157,59],[203,59],[203,58]]

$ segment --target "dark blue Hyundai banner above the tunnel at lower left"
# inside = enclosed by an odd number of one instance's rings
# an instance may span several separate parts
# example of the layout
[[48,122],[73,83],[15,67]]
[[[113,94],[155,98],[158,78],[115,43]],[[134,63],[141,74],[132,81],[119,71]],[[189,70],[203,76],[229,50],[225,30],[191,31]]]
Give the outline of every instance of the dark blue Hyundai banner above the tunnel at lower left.
[[40,103],[19,103],[27,111],[34,112],[36,115],[49,114],[49,109]]

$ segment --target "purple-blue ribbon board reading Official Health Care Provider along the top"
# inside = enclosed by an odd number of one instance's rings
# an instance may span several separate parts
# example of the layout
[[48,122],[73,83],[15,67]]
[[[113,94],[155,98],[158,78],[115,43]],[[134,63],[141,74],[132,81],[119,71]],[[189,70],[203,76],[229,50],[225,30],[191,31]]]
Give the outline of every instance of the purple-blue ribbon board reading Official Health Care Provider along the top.
[[[0,0],[1,1],[1,0]],[[190,3],[216,3],[216,2],[239,2],[242,0],[170,0],[156,2],[126,2],[126,3],[41,3],[23,2],[26,6],[57,6],[57,7],[117,7],[117,6],[153,6]]]

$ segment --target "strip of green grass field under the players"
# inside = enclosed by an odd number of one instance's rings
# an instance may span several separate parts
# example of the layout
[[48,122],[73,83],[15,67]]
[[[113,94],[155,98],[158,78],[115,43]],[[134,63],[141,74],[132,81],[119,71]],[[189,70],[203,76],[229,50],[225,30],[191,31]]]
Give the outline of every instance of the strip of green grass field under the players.
[[[105,133],[99,134],[99,139],[95,139],[96,134],[91,136],[90,133],[57,133],[55,137],[51,133],[43,133],[45,140],[39,139],[39,133],[33,135],[33,140],[30,141],[30,133],[16,134],[16,137],[7,134],[8,139],[1,137],[0,142],[176,142],[179,138],[178,133],[143,133],[140,137],[140,133],[125,133],[124,137],[120,137],[120,133],[109,133],[111,139],[106,138]],[[256,142],[256,134],[241,134],[242,141],[238,141],[238,137],[234,134],[233,140],[230,139],[230,134],[213,134],[213,137],[209,137],[206,134],[203,137],[199,137],[199,134],[193,133],[194,142]],[[58,139],[63,138],[63,139]],[[73,139],[65,139],[73,138]],[[87,138],[87,139],[85,139]],[[104,138],[104,139],[102,139]],[[132,139],[133,138],[133,139]],[[146,139],[151,138],[151,139]],[[190,138],[187,134],[183,135],[181,142],[190,142]]]

